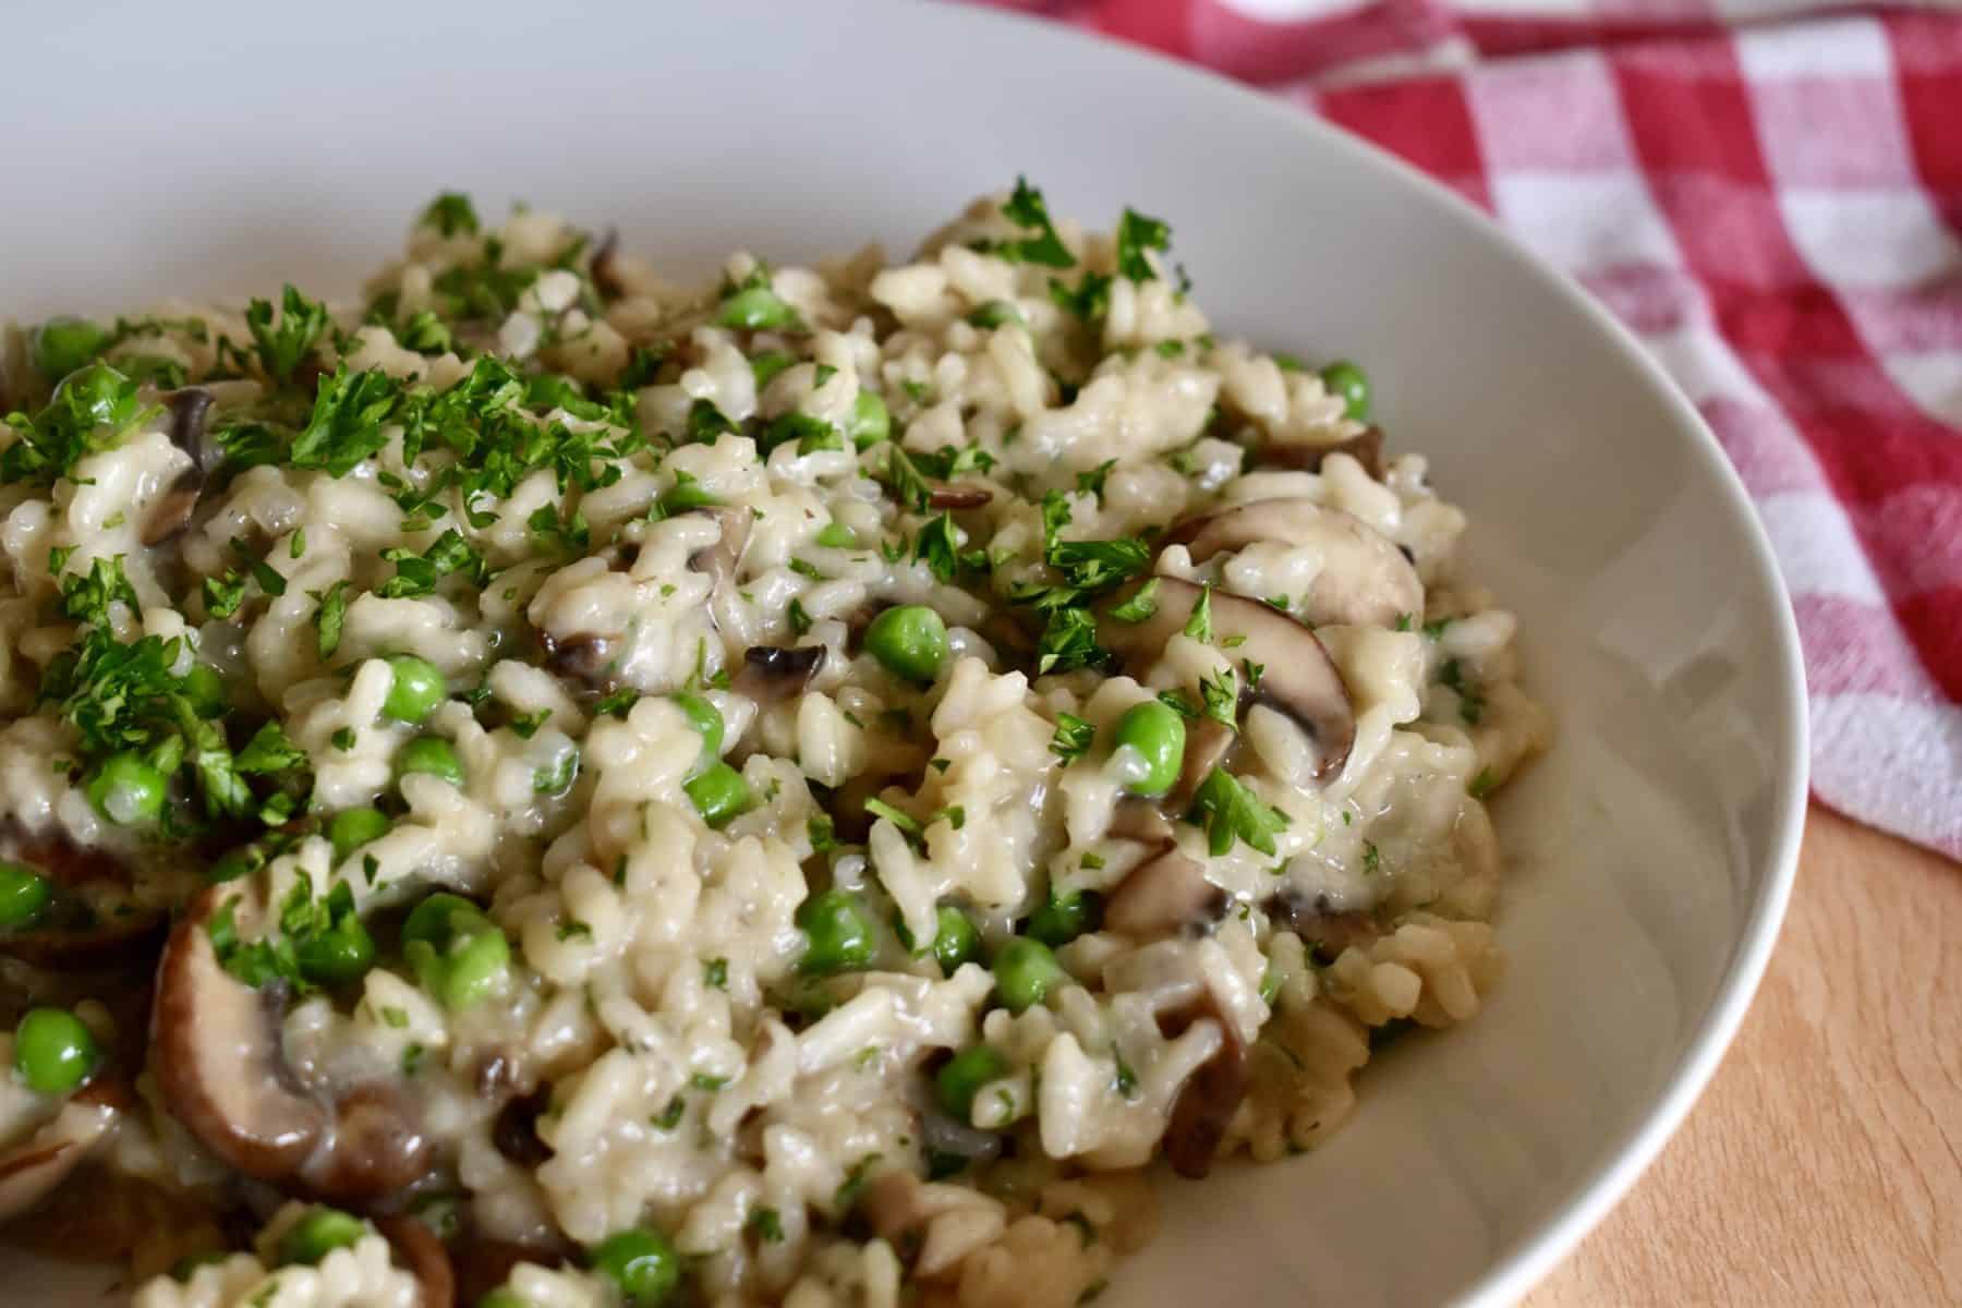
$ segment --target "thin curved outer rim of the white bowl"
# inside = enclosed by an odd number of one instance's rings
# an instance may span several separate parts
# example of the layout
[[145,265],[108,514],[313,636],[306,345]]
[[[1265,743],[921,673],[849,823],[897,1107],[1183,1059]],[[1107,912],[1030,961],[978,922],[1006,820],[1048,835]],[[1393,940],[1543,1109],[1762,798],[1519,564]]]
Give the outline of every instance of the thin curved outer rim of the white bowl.
[[[857,0],[871,8],[891,8],[887,0]],[[1020,14],[1014,10],[993,10],[979,6],[920,6],[938,10],[936,22],[979,22],[997,25],[1020,25],[1028,39],[1059,41],[1079,47],[1079,55],[1110,65],[1132,65],[1138,75],[1165,80],[1181,80],[1193,94],[1214,96],[1222,112],[1260,116],[1275,131],[1297,133],[1313,139],[1317,149],[1346,155],[1364,171],[1375,173],[1383,182],[1413,204],[1430,208],[1438,218],[1458,226],[1473,237],[1489,255],[1507,261],[1521,277],[1536,282],[1538,288],[1554,296],[1566,310],[1587,322],[1601,337],[1603,345],[1630,363],[1660,404],[1672,418],[1676,439],[1689,447],[1695,465],[1721,494],[1746,539],[1746,563],[1752,580],[1762,586],[1764,600],[1772,612],[1772,673],[1778,682],[1780,720],[1768,724],[1776,763],[1772,767],[1772,824],[1770,845],[1764,855],[1764,877],[1756,894],[1742,908],[1742,930],[1732,943],[1730,961],[1717,981],[1709,1006],[1683,1043],[1683,1053],[1668,1073],[1660,1092],[1636,1122],[1611,1137],[1601,1159],[1581,1175],[1574,1190],[1540,1220],[1528,1235],[1505,1247],[1460,1294],[1460,1304],[1497,1306],[1523,1298],[1538,1284],[1581,1239],[1593,1232],[1609,1210],[1634,1188],[1648,1165],[1656,1161],[1662,1147],[1678,1132],[1689,1110],[1695,1108],[1725,1051],[1736,1037],[1736,1030],[1758,992],[1764,969],[1785,920],[1791,900],[1791,886],[1799,871],[1799,843],[1805,831],[1805,812],[1809,800],[1809,735],[1811,722],[1805,698],[1805,663],[1799,647],[1799,629],[1791,610],[1791,596],[1785,590],[1783,575],[1778,571],[1772,541],[1758,520],[1758,512],[1744,490],[1730,459],[1711,431],[1709,424],[1695,410],[1683,390],[1642,347],[1634,333],[1623,326],[1607,308],[1589,296],[1579,282],[1552,267],[1526,249],[1513,233],[1462,194],[1405,163],[1379,145],[1346,131],[1301,104],[1291,104],[1281,96],[1258,90],[1224,75],[1213,73],[1154,49],[1138,47],[1109,35],[1087,33],[1054,20]]]

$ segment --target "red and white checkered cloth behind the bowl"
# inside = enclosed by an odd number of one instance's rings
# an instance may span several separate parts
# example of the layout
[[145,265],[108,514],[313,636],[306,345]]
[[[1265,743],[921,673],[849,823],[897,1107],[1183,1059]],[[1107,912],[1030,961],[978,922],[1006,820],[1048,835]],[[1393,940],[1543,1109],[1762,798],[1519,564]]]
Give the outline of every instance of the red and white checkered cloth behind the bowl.
[[1267,86],[1599,296],[1772,537],[1815,794],[1962,857],[1962,12],[995,2]]

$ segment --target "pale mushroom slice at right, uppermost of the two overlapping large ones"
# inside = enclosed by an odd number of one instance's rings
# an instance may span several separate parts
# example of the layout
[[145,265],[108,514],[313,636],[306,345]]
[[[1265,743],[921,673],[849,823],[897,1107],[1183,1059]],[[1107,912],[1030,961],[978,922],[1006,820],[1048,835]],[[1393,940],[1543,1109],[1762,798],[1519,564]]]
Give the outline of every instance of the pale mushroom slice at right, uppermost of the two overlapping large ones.
[[1405,614],[1424,612],[1424,582],[1389,537],[1340,508],[1307,498],[1254,500],[1193,518],[1165,533],[1183,543],[1193,563],[1256,541],[1315,547],[1322,569],[1301,596],[1309,626],[1387,628]]

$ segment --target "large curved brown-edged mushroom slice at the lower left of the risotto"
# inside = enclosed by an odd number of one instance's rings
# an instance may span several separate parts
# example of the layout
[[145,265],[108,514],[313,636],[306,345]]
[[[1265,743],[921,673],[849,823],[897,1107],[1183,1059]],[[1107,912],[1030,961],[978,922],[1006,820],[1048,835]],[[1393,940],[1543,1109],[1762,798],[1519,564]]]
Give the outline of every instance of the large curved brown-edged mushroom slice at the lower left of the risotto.
[[257,935],[263,898],[212,886],[157,967],[151,1069],[165,1106],[224,1163],[322,1198],[371,1200],[422,1177],[430,1141],[406,1094],[371,1082],[328,1100],[298,1082],[283,1047],[284,986],[255,990],[218,961],[210,924],[228,904],[237,935]]

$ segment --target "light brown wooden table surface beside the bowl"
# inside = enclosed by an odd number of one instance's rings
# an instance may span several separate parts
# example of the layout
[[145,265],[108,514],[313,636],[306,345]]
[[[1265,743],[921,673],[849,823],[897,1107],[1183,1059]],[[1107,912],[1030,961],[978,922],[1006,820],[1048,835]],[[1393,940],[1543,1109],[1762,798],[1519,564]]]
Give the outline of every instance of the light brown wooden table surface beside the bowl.
[[1962,867],[1813,806],[1736,1043],[1526,1304],[1962,1304]]

